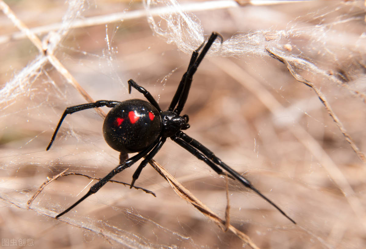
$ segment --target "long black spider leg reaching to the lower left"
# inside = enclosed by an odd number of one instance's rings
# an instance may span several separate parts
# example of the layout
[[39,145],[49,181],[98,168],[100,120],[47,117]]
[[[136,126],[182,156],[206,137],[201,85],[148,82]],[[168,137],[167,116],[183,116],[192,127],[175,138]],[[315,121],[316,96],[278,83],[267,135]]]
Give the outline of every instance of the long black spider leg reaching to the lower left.
[[105,185],[110,179],[112,179],[113,176],[121,172],[122,170],[131,167],[132,164],[136,163],[138,160],[140,160],[142,157],[146,156],[147,153],[149,153],[150,150],[158,143],[158,140],[156,140],[152,145],[150,145],[148,148],[143,150],[142,152],[139,152],[137,155],[131,157],[130,159],[127,159],[124,161],[124,163],[119,164],[117,167],[115,167],[111,172],[108,173],[108,175],[104,176],[102,179],[100,179],[97,183],[95,183],[93,186],[90,187],[89,191],[85,194],[85,196],[81,197],[78,201],[76,201],[73,205],[71,205],[69,208],[67,208],[62,213],[59,213],[55,218],[58,219],[60,216],[64,215],[68,211],[70,211],[72,208],[74,208],[76,205],[78,205],[80,202],[85,200],[88,196],[91,194],[96,193],[102,186]]

